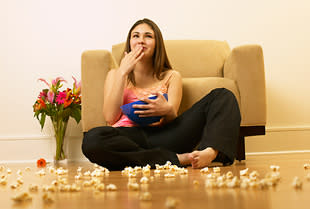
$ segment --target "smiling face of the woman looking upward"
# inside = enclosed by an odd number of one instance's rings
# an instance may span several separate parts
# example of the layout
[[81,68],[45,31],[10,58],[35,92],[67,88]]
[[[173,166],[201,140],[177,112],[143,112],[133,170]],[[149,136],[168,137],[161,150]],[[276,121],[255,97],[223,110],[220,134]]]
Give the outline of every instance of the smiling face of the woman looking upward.
[[155,33],[148,24],[136,26],[130,36],[130,48],[143,47],[144,57],[152,57],[155,50]]

